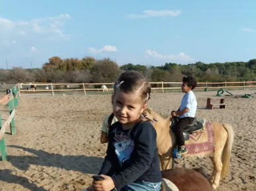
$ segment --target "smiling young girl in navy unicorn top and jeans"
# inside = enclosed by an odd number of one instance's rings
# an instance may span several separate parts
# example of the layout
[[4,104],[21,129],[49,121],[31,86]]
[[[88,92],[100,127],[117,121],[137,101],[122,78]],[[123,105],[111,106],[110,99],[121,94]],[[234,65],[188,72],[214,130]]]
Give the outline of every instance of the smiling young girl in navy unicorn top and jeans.
[[160,190],[156,131],[140,119],[150,93],[149,83],[138,72],[124,72],[116,80],[113,113],[118,122],[108,132],[107,155],[99,173],[105,180],[93,180],[93,190]]

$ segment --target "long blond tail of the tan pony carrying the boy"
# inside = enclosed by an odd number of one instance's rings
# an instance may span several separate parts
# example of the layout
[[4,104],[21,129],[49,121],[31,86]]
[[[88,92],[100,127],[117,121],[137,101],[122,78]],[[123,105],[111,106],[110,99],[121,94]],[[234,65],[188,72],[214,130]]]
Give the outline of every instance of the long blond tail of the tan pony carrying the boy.
[[228,132],[228,140],[225,144],[224,150],[222,151],[222,178],[225,178],[228,175],[228,168],[230,166],[230,157],[234,142],[234,130],[230,124],[225,123],[222,125]]

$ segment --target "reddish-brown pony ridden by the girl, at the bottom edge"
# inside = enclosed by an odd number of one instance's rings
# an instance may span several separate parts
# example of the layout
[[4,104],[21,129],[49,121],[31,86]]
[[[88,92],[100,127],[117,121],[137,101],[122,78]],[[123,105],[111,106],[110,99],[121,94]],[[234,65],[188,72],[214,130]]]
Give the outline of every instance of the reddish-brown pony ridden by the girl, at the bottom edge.
[[[202,169],[175,168],[161,171],[161,191],[212,191],[212,186]],[[93,191],[89,188],[83,191]]]

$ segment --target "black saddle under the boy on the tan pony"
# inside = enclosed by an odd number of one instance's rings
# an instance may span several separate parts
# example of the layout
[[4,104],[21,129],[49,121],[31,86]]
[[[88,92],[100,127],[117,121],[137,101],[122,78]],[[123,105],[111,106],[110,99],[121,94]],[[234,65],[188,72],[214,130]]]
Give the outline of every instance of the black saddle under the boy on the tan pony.
[[[176,125],[178,123],[178,117],[172,118],[171,128],[173,131],[175,131]],[[196,117],[194,118],[194,121],[192,121],[191,124],[189,124],[184,130],[183,130],[183,136],[184,140],[189,140],[189,134],[192,134],[193,132],[202,130],[204,128],[204,123],[202,121],[198,121]]]

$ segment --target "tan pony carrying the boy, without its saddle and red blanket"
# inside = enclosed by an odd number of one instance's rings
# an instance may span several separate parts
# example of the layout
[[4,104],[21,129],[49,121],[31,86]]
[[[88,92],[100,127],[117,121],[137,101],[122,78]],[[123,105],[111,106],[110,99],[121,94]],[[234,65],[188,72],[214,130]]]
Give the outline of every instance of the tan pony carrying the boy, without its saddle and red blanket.
[[[175,144],[175,134],[171,130],[171,116],[164,119],[153,109],[146,109],[144,116],[153,121],[153,126],[157,131],[157,148],[162,170],[169,169],[173,157],[173,147]],[[210,159],[214,165],[211,182],[212,188],[216,189],[222,178],[228,175],[230,165],[230,155],[234,142],[234,131],[230,124],[221,124],[212,121],[214,127],[215,150]]]

